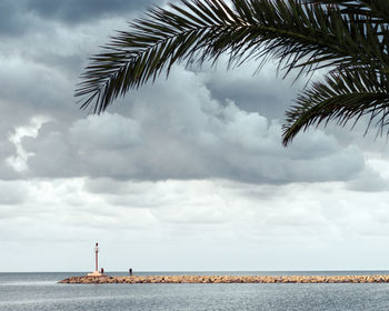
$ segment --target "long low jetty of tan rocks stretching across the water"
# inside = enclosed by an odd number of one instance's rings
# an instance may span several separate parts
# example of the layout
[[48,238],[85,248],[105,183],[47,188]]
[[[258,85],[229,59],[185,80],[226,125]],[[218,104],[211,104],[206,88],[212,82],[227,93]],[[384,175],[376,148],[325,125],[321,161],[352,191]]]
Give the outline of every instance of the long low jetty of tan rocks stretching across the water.
[[84,275],[71,277],[59,283],[389,283],[389,275]]

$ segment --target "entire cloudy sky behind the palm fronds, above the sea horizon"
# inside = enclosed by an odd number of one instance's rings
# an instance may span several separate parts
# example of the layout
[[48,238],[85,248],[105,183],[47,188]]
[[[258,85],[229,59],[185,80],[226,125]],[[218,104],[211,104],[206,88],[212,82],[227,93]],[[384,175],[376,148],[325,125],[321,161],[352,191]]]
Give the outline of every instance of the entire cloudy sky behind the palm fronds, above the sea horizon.
[[[162,0],[0,2],[0,272],[389,269],[389,150],[363,120],[300,133],[276,62],[172,68],[101,116],[88,58]],[[320,74],[313,77],[320,79]]]

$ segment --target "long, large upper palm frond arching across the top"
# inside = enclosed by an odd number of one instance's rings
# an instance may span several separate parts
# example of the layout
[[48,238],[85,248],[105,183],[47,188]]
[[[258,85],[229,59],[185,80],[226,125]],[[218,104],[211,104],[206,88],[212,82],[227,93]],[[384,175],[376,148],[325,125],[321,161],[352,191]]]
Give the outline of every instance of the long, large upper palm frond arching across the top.
[[338,8],[298,0],[232,0],[231,8],[222,0],[181,4],[149,10],[91,59],[76,90],[81,108],[100,113],[163,70],[169,74],[173,63],[215,62],[225,52],[230,66],[253,58],[260,67],[278,59],[286,74],[325,67],[389,68],[389,36],[377,36],[372,21]]

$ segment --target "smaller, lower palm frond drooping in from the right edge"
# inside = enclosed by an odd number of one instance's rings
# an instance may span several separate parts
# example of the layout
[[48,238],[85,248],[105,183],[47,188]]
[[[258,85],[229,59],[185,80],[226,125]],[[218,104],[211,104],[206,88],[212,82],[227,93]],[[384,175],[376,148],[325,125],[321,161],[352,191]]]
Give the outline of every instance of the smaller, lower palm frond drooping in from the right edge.
[[316,82],[297,99],[286,116],[282,143],[288,146],[301,130],[336,121],[346,126],[370,114],[371,126],[382,133],[388,126],[389,76],[370,69],[331,72],[325,82]]

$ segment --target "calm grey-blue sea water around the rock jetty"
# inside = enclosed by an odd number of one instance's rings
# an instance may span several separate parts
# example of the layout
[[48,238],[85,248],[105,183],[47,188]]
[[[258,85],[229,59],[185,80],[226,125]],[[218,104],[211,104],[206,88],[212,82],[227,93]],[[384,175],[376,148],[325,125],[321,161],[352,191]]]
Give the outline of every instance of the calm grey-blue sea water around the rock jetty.
[[[333,275],[335,272],[143,272],[138,274]],[[1,311],[389,310],[389,284],[58,284],[86,273],[0,273]],[[111,275],[127,275],[110,272]]]

